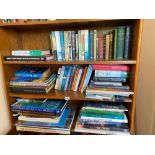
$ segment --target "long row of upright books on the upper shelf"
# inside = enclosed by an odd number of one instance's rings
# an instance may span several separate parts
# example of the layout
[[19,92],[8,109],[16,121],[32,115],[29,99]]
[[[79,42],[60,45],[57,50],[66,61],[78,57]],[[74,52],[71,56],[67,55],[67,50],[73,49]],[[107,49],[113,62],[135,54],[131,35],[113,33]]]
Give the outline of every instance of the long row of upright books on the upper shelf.
[[130,26],[104,30],[52,31],[54,59],[58,61],[123,60],[131,56]]

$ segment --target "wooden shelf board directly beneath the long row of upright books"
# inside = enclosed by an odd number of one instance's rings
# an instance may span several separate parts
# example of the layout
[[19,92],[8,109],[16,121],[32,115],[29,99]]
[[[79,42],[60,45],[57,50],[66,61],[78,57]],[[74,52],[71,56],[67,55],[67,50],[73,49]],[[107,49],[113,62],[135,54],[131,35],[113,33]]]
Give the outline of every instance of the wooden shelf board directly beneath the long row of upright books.
[[136,60],[111,60],[111,61],[3,61],[3,64],[34,64],[34,65],[89,65],[89,64],[136,64]]

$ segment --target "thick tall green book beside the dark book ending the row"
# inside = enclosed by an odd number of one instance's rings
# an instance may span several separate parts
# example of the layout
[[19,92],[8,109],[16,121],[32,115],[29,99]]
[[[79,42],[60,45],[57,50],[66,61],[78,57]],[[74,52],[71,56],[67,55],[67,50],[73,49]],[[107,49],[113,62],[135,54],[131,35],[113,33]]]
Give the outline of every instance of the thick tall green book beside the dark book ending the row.
[[117,28],[116,59],[122,60],[124,55],[125,26]]

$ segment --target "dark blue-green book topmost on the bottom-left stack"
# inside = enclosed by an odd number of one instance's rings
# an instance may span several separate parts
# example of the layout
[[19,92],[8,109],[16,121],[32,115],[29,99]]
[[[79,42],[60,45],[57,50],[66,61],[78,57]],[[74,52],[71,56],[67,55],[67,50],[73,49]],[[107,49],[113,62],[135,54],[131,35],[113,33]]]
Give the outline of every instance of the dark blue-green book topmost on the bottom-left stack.
[[41,101],[19,101],[11,105],[12,110],[32,111],[40,113],[51,113],[54,115],[60,115],[67,105],[65,100],[51,100],[47,99]]

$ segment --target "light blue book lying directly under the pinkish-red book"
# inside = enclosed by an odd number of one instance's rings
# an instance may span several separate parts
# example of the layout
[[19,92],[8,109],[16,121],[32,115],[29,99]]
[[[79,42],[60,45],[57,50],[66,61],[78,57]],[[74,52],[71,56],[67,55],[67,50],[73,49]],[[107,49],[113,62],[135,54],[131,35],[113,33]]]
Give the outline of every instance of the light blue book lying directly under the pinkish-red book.
[[127,72],[123,71],[95,71],[96,77],[118,77],[118,78],[126,78]]

